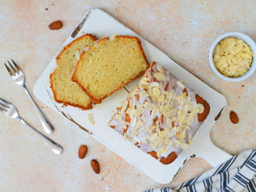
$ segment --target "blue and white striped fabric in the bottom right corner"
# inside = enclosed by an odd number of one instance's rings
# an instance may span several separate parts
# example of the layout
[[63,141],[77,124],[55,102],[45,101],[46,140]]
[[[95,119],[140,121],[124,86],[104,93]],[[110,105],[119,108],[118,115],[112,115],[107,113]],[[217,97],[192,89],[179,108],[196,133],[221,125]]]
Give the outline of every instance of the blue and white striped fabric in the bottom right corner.
[[176,189],[149,189],[146,192],[256,192],[256,151],[237,154],[222,165],[190,179]]

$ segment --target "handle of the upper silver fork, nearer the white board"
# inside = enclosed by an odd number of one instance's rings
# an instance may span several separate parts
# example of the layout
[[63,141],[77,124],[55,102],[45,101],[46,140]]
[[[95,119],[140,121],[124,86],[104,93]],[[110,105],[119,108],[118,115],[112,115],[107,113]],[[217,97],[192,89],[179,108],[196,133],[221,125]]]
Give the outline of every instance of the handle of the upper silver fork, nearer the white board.
[[32,104],[34,106],[34,108],[36,109],[38,116],[40,118],[41,124],[44,127],[44,131],[49,134],[52,131],[54,131],[54,127],[53,125],[51,125],[51,123],[49,122],[49,119],[47,119],[47,117],[44,115],[44,113],[41,111],[41,109],[38,107],[38,104],[33,100],[32,96],[30,95],[29,91],[26,89],[26,85],[23,84],[22,85],[27,96],[30,98],[30,100],[32,101]]

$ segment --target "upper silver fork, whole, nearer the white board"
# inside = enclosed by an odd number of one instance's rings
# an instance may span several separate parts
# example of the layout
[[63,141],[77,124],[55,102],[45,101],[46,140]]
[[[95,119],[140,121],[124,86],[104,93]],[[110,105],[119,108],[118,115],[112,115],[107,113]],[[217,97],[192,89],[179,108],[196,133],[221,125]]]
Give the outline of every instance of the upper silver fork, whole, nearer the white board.
[[12,61],[13,64],[11,64],[8,61],[10,67],[8,67],[8,65],[6,63],[4,63],[7,71],[9,72],[10,76],[15,81],[15,83],[21,85],[24,88],[27,96],[32,101],[32,104],[33,104],[34,108],[36,109],[36,111],[38,113],[38,116],[40,118],[41,124],[44,127],[44,131],[46,133],[48,133],[48,134],[51,133],[52,131],[54,131],[53,125],[51,125],[51,123],[49,122],[49,119],[47,119],[47,117],[44,115],[44,113],[38,107],[37,103],[33,100],[32,96],[29,93],[29,91],[26,89],[24,73],[22,72],[20,67],[15,63],[15,61],[13,61],[12,59],[11,59],[11,61]]

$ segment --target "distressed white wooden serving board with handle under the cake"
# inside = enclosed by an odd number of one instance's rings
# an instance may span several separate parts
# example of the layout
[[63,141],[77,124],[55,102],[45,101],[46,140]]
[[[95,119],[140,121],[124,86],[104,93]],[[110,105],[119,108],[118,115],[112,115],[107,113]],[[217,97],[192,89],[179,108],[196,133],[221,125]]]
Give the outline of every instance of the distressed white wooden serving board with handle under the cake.
[[[218,166],[224,162],[224,160],[230,159],[231,155],[217,148],[210,138],[210,130],[215,123],[214,119],[226,106],[226,100],[223,95],[213,90],[200,79],[197,79],[193,74],[189,73],[183,67],[180,67],[175,61],[172,61],[172,59],[160,51],[160,49],[148,43],[144,38],[132,32],[131,29],[124,26],[101,9],[90,9],[84,18],[86,18],[86,21],[76,38],[84,33],[96,35],[96,38],[108,37],[112,34],[137,36],[142,42],[149,63],[152,61],[160,62],[163,67],[171,71],[177,78],[182,79],[183,82],[188,84],[189,87],[209,102],[211,111],[207,119],[201,125],[200,130],[197,131],[195,137],[193,137],[189,150],[183,150],[183,152],[178,155],[177,160],[165,166],[158,160],[152,158],[149,154],[144,153],[140,148],[126,141],[117,131],[114,131],[108,126],[108,121],[111,119],[113,113],[116,112],[116,108],[119,107],[120,103],[128,96],[128,92],[124,88],[108,96],[102,103],[94,105],[94,108],[90,111],[82,111],[79,108],[70,106],[61,108],[62,104],[56,103],[52,99],[52,92],[49,88],[49,74],[52,73],[56,67],[54,57],[34,85],[34,94],[38,99],[56,111],[58,110],[55,106],[64,113],[68,113],[79,125],[92,131],[92,137],[113,150],[116,154],[119,154],[119,156],[131,163],[131,165],[136,166],[137,169],[147,174],[148,177],[152,177],[158,183],[171,182],[172,177],[177,173],[179,168],[183,166],[184,160],[189,159],[192,154],[207,160],[212,166]],[[67,45],[71,41],[73,41],[73,38],[69,36],[64,45]],[[58,53],[56,55],[58,55]],[[138,79],[131,84],[127,84],[125,88],[127,90],[133,90],[137,81]],[[96,122],[95,125],[90,124],[87,118],[88,113],[93,113]]]

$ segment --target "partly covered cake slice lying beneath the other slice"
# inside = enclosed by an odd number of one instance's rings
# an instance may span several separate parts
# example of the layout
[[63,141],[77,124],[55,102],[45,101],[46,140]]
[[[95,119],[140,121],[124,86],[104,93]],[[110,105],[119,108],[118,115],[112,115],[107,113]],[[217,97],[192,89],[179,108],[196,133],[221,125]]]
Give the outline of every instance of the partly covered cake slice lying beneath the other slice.
[[92,108],[90,97],[84,93],[78,84],[71,80],[75,67],[75,57],[88,45],[93,45],[96,41],[90,34],[85,34],[73,40],[56,57],[57,67],[50,74],[50,87],[56,102],[72,105],[82,109]]

